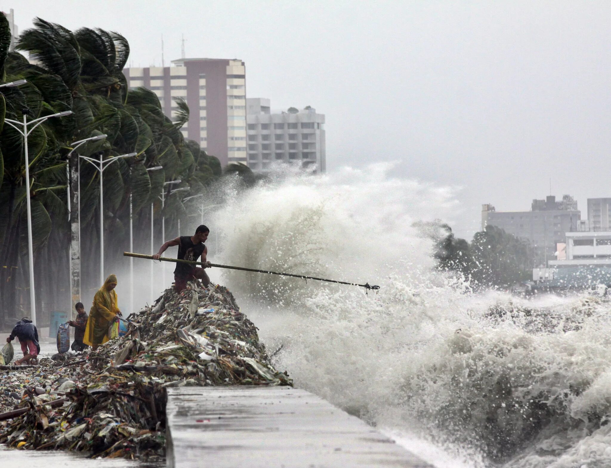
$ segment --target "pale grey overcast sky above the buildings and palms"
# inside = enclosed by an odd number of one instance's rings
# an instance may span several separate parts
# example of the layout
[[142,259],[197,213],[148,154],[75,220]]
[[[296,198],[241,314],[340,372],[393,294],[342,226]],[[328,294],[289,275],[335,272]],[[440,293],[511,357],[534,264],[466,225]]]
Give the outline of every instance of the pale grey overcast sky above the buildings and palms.
[[247,95],[326,114],[327,167],[396,160],[396,175],[461,187],[461,236],[480,204],[611,196],[611,2],[27,0],[70,29],[125,35],[130,63],[246,62]]

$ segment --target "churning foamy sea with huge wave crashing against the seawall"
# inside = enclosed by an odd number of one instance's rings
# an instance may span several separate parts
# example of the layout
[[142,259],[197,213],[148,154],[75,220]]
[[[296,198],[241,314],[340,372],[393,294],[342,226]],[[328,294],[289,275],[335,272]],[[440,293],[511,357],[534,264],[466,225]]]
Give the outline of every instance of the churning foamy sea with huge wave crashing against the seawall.
[[427,222],[452,189],[392,165],[284,176],[208,223],[214,262],[378,284],[366,293],[258,273],[227,284],[279,369],[438,467],[611,466],[610,305],[476,294],[434,270]]

